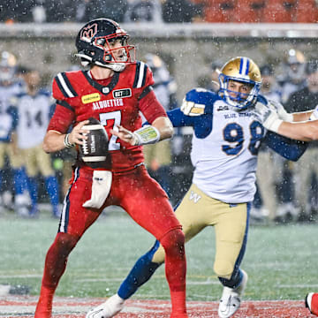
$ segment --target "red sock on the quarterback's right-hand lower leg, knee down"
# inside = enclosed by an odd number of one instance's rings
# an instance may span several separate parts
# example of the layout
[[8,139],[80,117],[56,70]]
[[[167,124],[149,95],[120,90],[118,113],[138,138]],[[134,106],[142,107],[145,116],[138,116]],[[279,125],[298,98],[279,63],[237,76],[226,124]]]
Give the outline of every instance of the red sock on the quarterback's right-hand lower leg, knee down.
[[177,229],[167,233],[160,242],[165,249],[165,273],[172,306],[170,317],[187,318],[185,236]]

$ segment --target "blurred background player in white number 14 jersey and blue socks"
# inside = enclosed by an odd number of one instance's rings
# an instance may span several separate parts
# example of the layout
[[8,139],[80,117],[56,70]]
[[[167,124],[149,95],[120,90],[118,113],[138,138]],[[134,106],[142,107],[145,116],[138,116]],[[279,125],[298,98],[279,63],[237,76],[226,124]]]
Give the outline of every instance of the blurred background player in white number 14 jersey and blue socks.
[[30,216],[38,213],[38,181],[40,172],[44,178],[49,200],[52,205],[52,216],[58,217],[59,186],[52,169],[50,156],[42,150],[42,141],[53,114],[54,104],[48,91],[40,88],[38,71],[25,69],[22,72],[26,82],[26,92],[16,97],[18,125],[16,128],[17,143],[27,169],[27,185],[31,197]]

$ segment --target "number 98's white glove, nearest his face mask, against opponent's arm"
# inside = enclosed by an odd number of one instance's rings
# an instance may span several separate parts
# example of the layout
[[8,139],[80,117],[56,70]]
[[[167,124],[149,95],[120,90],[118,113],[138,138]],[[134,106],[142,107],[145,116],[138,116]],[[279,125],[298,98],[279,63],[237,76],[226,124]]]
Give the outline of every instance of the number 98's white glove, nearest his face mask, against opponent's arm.
[[253,114],[261,122],[261,125],[274,133],[278,132],[278,127],[283,123],[283,120],[279,119],[278,114],[272,107],[261,102],[256,103]]

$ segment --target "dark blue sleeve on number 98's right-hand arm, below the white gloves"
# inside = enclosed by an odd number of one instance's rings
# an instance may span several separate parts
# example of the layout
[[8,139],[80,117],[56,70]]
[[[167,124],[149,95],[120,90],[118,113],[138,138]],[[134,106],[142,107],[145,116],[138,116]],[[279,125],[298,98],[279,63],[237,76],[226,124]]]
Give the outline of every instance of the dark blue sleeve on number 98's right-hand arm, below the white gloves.
[[276,151],[277,154],[292,161],[298,161],[307,149],[308,143],[305,141],[292,140],[277,133],[268,132],[264,142]]

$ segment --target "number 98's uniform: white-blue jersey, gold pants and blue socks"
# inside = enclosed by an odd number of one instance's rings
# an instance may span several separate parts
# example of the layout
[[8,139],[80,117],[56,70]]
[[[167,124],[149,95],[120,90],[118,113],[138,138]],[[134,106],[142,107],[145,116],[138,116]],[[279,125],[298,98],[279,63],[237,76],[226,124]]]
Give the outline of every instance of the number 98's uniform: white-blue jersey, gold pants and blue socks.
[[[176,209],[176,216],[186,241],[205,227],[214,226],[214,271],[223,286],[234,289],[242,281],[239,267],[246,250],[261,142],[290,160],[297,160],[307,144],[267,132],[251,116],[250,108],[237,111],[214,92],[195,88],[186,94],[184,102],[192,103],[197,116],[186,116],[180,109],[168,112],[175,127],[193,127],[193,184]],[[257,102],[267,100],[259,95]],[[118,295],[122,299],[131,297],[163,261],[163,247],[155,242],[136,262]]]

